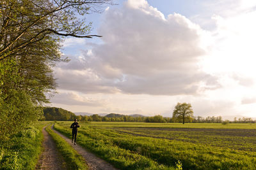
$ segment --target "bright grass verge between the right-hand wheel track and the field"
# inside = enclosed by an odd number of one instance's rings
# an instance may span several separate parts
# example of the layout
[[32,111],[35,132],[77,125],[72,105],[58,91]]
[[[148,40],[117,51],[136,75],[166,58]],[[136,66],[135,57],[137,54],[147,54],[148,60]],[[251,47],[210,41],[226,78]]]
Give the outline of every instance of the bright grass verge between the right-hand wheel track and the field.
[[[72,138],[70,129],[61,127],[58,124],[54,125],[54,129],[68,138]],[[96,153],[99,157],[110,162],[118,169],[175,169],[173,166],[158,164],[156,161],[144,155],[113,145],[108,139],[90,138],[81,134],[81,131],[77,134],[77,143],[91,152]]]

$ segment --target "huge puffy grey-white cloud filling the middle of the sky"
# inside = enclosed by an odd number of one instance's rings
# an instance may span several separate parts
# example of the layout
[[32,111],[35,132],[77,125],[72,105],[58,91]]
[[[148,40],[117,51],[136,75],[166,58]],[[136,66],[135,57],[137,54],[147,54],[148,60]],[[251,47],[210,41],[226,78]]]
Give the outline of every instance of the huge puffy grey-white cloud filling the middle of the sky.
[[172,96],[218,88],[216,77],[198,67],[204,33],[180,14],[164,18],[147,1],[129,0],[104,12],[104,43],[56,69],[60,89]]

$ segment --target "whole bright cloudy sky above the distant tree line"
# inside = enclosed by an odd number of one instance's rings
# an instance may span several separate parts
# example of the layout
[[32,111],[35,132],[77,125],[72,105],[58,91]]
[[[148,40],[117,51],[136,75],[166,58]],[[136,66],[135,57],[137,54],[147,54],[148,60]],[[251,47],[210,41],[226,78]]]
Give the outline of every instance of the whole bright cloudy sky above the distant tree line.
[[256,1],[125,0],[66,38],[51,106],[73,112],[256,117]]

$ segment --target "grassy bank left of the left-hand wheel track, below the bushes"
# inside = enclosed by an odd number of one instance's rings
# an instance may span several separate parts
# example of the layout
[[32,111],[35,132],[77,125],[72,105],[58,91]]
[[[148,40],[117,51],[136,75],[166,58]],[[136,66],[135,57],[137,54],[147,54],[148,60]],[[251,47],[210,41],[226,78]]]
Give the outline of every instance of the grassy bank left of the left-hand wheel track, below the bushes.
[[42,128],[49,124],[38,122],[13,135],[0,146],[0,169],[35,169],[42,153]]

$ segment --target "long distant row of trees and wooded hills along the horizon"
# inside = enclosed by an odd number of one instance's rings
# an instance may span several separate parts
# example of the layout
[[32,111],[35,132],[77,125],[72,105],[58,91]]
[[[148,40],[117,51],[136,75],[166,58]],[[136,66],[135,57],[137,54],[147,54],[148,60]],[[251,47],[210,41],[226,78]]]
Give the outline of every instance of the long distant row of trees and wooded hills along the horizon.
[[[77,118],[80,122],[148,122],[148,123],[182,123],[183,118],[163,117],[156,115],[154,117],[132,117],[129,115],[120,115],[110,113],[104,117],[100,115],[75,115],[71,111],[63,110],[62,108],[44,108],[44,118],[41,120],[59,120],[73,121]],[[192,117],[186,118],[187,123],[256,123],[252,118],[235,118],[234,121],[223,120],[219,117]]]

